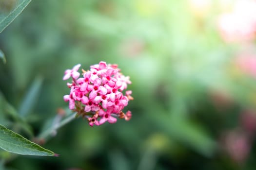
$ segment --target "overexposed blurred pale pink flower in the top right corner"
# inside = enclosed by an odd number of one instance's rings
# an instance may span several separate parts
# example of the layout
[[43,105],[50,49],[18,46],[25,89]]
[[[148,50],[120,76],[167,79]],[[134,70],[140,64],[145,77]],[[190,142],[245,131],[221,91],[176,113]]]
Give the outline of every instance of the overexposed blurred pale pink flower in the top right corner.
[[222,14],[218,28],[227,42],[251,41],[256,38],[256,0],[236,0],[232,12]]

